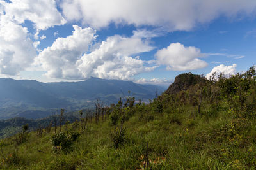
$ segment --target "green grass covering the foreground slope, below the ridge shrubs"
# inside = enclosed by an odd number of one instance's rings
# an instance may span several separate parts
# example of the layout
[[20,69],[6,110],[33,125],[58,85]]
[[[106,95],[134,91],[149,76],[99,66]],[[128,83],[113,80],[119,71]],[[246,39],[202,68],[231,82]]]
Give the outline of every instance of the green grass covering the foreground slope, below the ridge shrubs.
[[[38,138],[36,132],[31,132],[28,141],[17,147],[11,139],[5,139],[8,146],[3,152],[10,163],[3,163],[2,168],[141,169],[148,152],[153,169],[253,169],[255,120],[234,119],[227,105],[221,103],[221,110],[212,113],[203,104],[200,115],[193,106],[180,106],[161,114],[150,112],[148,106],[137,106],[140,108],[124,124],[129,143],[118,149],[112,146],[110,133],[114,129],[109,121],[88,124],[74,143],[73,152],[67,154],[52,153],[50,135],[45,133]],[[236,131],[238,126],[241,129]]]

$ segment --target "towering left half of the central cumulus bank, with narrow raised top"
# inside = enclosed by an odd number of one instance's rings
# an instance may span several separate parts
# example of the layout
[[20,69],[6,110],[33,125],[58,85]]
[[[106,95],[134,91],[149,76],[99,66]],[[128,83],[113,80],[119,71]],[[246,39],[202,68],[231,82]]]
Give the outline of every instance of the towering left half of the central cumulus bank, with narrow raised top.
[[52,46],[45,48],[36,59],[47,71],[47,76],[54,78],[79,78],[76,62],[88,50],[96,38],[95,30],[82,29],[74,25],[74,31],[67,38],[57,38]]

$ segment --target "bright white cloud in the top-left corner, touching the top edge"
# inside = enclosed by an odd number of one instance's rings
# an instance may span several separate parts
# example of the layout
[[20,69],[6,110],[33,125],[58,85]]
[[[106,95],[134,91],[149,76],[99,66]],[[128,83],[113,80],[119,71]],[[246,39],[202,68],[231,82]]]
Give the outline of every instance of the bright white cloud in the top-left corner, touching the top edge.
[[65,24],[65,19],[56,9],[54,0],[10,0],[11,3],[0,1],[8,20],[19,24],[30,20],[36,29],[44,30],[54,25]]

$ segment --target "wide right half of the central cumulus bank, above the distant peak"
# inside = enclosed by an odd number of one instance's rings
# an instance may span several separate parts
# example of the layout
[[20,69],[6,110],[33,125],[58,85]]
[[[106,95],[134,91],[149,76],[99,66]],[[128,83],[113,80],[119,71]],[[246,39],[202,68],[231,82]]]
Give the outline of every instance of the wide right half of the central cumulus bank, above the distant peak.
[[136,74],[156,68],[156,66],[145,66],[146,62],[138,56],[131,57],[152,49],[147,41],[140,38],[116,35],[102,41],[99,48],[93,52],[83,55],[77,64],[84,78],[96,76],[129,80]]

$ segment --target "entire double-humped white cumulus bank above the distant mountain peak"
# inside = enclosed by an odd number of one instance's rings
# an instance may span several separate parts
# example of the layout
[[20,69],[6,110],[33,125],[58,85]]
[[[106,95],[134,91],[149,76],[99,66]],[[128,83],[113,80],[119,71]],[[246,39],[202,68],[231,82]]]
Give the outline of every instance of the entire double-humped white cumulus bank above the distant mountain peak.
[[81,29],[76,25],[74,29],[71,36],[56,39],[52,46],[39,53],[37,61],[47,71],[47,76],[67,79],[96,76],[127,80],[156,67],[147,67],[147,62],[140,60],[140,57],[132,57],[153,49],[146,40],[116,35],[90,51],[88,49],[97,37],[95,31],[91,28]]

